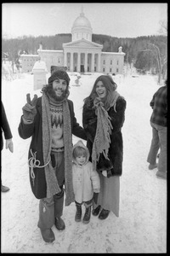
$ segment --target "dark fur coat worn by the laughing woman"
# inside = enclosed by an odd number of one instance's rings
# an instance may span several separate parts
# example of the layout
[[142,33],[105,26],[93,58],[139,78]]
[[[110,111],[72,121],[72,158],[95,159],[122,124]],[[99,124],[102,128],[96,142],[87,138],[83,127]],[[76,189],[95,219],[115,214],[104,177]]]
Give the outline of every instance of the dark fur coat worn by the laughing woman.
[[[125,120],[126,101],[122,96],[119,96],[116,101],[116,111],[111,107],[108,114],[111,117],[111,124],[113,129],[111,130],[111,144],[109,148],[108,157],[105,159],[103,154],[99,155],[99,161],[97,162],[97,171],[111,170],[110,176],[122,175],[122,159],[123,159],[123,142],[122,142],[122,125]],[[91,106],[84,104],[82,110],[82,125],[87,133],[87,147],[92,155],[94,137],[97,127],[97,116],[95,114],[94,102],[91,101]],[[90,158],[91,160],[91,158]]]

